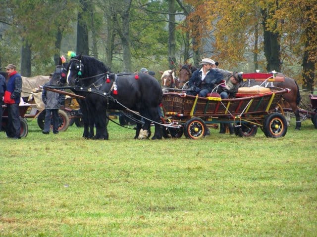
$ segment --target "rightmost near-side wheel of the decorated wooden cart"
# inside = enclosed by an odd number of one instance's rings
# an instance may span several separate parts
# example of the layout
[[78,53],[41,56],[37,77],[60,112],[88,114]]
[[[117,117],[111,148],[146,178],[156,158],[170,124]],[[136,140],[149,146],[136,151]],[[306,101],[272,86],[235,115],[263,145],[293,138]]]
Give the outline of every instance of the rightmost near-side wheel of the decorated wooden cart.
[[264,119],[264,134],[266,137],[284,137],[287,132],[286,118],[279,113],[272,113]]

